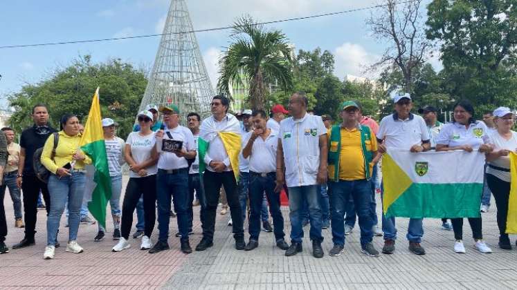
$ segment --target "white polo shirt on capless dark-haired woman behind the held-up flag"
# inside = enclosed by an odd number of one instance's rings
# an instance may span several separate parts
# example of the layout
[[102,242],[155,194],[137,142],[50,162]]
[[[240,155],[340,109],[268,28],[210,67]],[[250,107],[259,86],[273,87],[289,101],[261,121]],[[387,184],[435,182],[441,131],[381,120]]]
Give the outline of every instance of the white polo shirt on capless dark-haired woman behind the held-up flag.
[[449,147],[470,145],[474,149],[488,143],[492,143],[489,130],[487,125],[480,121],[470,124],[469,128],[457,122],[445,124],[436,139],[436,144]]

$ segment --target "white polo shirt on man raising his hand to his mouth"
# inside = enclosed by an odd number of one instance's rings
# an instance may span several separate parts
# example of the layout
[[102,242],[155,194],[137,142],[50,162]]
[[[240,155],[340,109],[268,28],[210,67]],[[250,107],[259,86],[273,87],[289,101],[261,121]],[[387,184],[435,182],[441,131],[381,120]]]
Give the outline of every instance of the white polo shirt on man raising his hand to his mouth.
[[[248,144],[251,132],[246,134],[242,142],[242,148]],[[276,149],[278,148],[278,132],[271,129],[271,133],[266,139],[257,137],[251,147],[250,171],[256,173],[270,173],[276,171]]]

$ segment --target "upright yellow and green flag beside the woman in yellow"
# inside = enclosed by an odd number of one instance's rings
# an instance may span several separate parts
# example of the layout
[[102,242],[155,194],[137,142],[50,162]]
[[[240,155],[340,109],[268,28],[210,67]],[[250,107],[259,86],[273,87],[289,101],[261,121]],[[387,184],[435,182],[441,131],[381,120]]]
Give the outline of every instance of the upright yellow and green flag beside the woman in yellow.
[[91,181],[94,183],[94,186],[92,186],[93,192],[91,193],[91,201],[88,203],[88,209],[93,218],[96,218],[101,226],[106,227],[106,206],[111,197],[111,179],[109,177],[101,121],[99,88],[97,88],[95,94],[93,94],[90,113],[88,114],[86,126],[84,126],[80,147],[91,158],[91,164],[95,168],[93,180]]

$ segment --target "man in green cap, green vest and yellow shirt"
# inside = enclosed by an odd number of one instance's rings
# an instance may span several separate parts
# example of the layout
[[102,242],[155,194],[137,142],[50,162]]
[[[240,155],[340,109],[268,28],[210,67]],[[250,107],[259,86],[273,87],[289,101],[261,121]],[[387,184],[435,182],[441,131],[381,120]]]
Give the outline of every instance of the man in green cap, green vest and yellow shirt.
[[341,106],[343,123],[332,127],[329,134],[329,188],[332,191],[332,241],[329,255],[336,256],[345,246],[345,212],[352,199],[361,228],[361,252],[379,256],[373,244],[370,214],[372,168],[378,161],[377,139],[370,127],[359,124],[359,106],[345,101]]

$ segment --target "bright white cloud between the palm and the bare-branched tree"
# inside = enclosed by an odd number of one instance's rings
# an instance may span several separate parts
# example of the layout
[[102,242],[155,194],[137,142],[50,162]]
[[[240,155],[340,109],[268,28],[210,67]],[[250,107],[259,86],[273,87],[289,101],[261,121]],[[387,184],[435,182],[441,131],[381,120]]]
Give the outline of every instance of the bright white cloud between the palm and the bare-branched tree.
[[341,79],[345,75],[372,77],[365,73],[368,66],[379,59],[378,55],[368,52],[357,43],[345,42],[334,50],[336,60],[334,73]]

